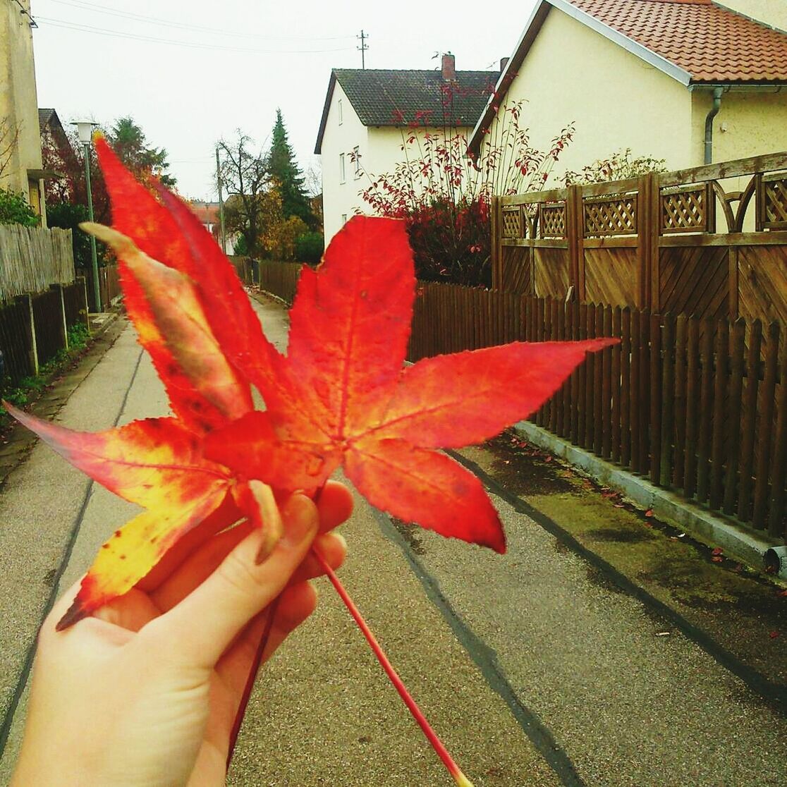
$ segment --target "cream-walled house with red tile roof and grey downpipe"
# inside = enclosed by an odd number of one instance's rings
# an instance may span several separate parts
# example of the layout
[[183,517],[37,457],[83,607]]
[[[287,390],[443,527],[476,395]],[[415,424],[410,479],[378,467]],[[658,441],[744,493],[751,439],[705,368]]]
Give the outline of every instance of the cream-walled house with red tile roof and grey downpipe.
[[575,121],[560,172],[626,148],[670,169],[787,150],[787,2],[724,2],[538,0],[471,155],[522,99],[537,147]]

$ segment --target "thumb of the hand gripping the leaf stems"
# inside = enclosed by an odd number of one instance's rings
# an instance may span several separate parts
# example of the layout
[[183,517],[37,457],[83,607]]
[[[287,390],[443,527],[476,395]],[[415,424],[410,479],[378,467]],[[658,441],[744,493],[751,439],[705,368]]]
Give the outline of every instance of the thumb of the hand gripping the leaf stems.
[[257,565],[257,555],[266,536],[254,530],[205,582],[146,626],[147,636],[158,640],[155,647],[164,645],[189,666],[213,667],[244,626],[282,592],[309,552],[319,523],[314,503],[293,495],[282,519],[283,537],[263,563]]

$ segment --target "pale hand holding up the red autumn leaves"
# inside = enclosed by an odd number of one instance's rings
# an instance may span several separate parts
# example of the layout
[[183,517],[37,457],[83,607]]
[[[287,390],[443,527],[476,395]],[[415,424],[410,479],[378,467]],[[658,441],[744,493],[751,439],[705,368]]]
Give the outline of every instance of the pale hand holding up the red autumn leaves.
[[150,593],[132,590],[57,632],[76,593],[39,634],[28,721],[12,787],[224,785],[232,724],[276,597],[264,661],[312,614],[309,582],[345,542],[330,531],[352,511],[328,482],[315,505],[281,505],[284,536],[256,565],[261,535],[241,526],[198,549]]

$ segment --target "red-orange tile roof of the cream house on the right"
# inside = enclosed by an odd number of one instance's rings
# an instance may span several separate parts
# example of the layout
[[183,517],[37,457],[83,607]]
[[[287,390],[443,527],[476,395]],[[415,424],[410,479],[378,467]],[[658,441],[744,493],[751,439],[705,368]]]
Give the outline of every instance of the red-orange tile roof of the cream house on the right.
[[692,82],[787,82],[787,33],[711,0],[567,0]]

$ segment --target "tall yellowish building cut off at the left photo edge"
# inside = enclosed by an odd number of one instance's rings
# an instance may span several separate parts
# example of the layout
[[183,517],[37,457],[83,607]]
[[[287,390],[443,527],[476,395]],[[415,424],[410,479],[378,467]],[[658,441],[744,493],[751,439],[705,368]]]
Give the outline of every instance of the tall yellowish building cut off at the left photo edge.
[[0,188],[24,194],[46,224],[30,0],[0,12]]

